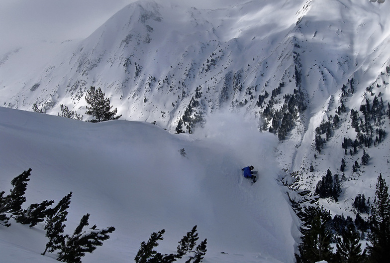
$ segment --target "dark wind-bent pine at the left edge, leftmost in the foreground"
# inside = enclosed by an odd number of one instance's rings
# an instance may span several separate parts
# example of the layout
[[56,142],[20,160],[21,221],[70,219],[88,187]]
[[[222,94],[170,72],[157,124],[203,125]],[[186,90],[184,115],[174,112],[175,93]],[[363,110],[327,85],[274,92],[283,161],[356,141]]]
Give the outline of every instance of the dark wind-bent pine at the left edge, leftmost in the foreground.
[[12,216],[18,216],[22,211],[21,205],[26,201],[24,193],[30,175],[31,168],[11,180],[13,189],[10,190],[9,195],[3,197],[5,192],[0,192],[0,220],[4,223],[0,223],[1,225],[9,227],[11,224],[8,223],[8,220]]

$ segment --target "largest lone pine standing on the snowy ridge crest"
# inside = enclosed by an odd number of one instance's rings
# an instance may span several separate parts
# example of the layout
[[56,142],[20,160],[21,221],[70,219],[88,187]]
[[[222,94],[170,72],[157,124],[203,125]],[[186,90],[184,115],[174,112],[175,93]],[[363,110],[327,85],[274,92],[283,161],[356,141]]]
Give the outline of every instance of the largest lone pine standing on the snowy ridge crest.
[[89,106],[87,106],[87,115],[94,116],[92,123],[99,123],[110,120],[117,120],[122,115],[116,116],[117,109],[111,111],[112,106],[110,106],[110,100],[108,98],[104,98],[104,93],[100,88],[98,90],[91,86],[91,88],[87,91],[86,101]]

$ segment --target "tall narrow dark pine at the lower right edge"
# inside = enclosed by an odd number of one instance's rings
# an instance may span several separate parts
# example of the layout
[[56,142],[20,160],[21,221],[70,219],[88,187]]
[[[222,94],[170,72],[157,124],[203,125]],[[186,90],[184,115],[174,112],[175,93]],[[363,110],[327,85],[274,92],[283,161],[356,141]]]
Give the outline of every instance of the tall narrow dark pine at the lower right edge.
[[378,176],[374,203],[369,217],[371,233],[368,252],[373,263],[387,262],[390,259],[390,198],[389,186],[382,174]]

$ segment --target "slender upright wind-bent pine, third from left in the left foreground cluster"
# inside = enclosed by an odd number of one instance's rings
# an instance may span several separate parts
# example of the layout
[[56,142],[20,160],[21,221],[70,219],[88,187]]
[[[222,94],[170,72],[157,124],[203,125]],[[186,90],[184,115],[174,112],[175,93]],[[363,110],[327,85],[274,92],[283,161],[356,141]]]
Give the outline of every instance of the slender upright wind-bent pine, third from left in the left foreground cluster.
[[54,208],[49,210],[45,222],[46,237],[49,239],[49,242],[47,242],[42,255],[45,255],[46,252],[54,252],[60,249],[61,244],[65,242],[63,233],[66,225],[64,222],[67,221],[67,209],[71,203],[71,197],[72,192],[64,196]]

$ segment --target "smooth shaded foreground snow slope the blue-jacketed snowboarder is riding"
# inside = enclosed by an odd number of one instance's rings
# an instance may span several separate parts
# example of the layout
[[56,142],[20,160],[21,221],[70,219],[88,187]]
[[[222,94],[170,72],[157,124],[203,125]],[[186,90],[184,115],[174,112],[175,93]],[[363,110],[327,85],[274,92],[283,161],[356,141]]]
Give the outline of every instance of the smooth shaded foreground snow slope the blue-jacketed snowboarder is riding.
[[[91,224],[114,226],[86,263],[131,262],[140,242],[163,228],[158,251],[173,252],[194,225],[207,238],[203,262],[294,262],[298,221],[275,181],[277,139],[239,115],[218,118],[196,135],[174,135],[143,122],[92,124],[0,108],[1,190],[31,167],[25,206],[72,191],[66,233],[86,213]],[[240,170],[251,164],[261,168],[253,186]],[[0,233],[2,262],[55,262],[40,255],[42,224],[12,222]]]

